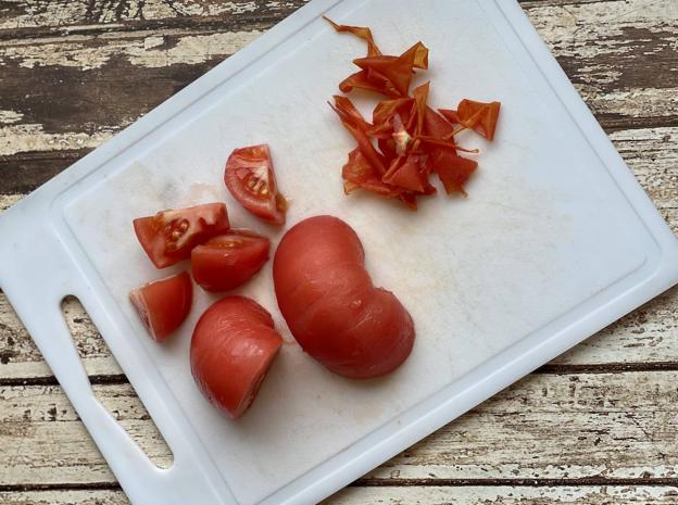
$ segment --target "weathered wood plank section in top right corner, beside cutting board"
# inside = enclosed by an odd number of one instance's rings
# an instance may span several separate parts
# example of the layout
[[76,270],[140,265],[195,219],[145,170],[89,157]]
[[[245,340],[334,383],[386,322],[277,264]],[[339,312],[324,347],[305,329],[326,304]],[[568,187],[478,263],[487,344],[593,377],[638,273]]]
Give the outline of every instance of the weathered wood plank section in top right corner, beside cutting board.
[[524,7],[606,126],[627,125],[629,118],[676,124],[677,2],[563,1]]

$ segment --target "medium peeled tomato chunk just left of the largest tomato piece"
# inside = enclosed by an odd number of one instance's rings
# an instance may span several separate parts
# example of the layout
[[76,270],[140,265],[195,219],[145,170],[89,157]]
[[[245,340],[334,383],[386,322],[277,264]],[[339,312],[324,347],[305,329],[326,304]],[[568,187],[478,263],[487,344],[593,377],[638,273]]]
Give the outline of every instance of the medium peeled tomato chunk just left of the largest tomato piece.
[[236,419],[256,396],[281,345],[264,307],[244,296],[225,296],[196,325],[191,373],[204,396]]

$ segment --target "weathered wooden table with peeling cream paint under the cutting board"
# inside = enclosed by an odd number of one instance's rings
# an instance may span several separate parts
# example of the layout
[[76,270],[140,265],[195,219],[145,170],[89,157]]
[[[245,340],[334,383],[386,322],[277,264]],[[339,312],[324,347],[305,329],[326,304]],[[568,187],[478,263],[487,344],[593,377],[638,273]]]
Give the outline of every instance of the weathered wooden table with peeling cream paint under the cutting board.
[[[0,0],[0,210],[303,3]],[[677,230],[678,1],[522,4]],[[81,307],[64,310],[101,402],[170,465]],[[674,289],[327,503],[676,504],[677,472]],[[0,503],[127,503],[1,293]]]

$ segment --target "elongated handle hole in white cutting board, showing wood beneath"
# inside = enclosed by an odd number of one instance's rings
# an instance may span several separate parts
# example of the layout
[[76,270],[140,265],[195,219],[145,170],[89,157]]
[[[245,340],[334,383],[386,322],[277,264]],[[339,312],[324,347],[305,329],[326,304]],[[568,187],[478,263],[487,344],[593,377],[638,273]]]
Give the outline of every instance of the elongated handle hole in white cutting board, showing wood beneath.
[[172,467],[172,450],[80,301],[66,296],[61,311],[99,403],[155,466]]

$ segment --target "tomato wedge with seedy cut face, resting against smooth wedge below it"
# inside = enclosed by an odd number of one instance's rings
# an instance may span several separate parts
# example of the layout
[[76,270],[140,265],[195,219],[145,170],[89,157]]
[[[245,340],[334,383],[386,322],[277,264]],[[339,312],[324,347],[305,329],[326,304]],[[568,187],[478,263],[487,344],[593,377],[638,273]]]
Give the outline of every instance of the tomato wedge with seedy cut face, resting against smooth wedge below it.
[[162,211],[134,220],[139,243],[156,268],[188,258],[196,245],[227,231],[229,226],[224,203]]

